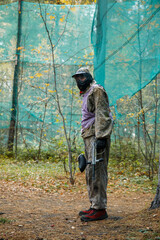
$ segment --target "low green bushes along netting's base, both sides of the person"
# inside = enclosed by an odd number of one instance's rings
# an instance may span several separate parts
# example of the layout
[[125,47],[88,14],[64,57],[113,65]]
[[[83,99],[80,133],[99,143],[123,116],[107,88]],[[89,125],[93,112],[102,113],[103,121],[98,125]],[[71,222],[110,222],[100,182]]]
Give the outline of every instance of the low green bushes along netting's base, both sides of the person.
[[[51,147],[52,146],[52,147]],[[64,167],[65,172],[68,172],[68,151],[64,137],[57,137],[52,140],[52,145],[47,150],[42,150],[38,159],[38,149],[36,148],[18,148],[17,156],[11,154],[5,148],[0,148],[0,156],[6,161],[10,159],[13,163],[19,164],[59,164]],[[82,140],[72,142],[72,163],[73,168],[77,164],[77,157],[84,151]],[[8,160],[7,160],[8,161]],[[138,153],[137,145],[129,141],[117,141],[111,143],[109,164],[111,168],[118,170],[119,174],[125,172],[136,173],[138,176],[148,176],[148,166],[144,164],[143,156]],[[158,171],[158,156],[154,164],[154,174],[157,176]],[[13,170],[14,171],[14,170]]]

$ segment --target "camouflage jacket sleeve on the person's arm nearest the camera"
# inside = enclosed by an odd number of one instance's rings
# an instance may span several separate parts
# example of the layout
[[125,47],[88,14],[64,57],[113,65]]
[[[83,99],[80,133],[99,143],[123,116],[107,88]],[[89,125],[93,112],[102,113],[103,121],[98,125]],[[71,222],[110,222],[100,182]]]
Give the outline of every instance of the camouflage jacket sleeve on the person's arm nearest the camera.
[[88,111],[95,113],[95,137],[107,138],[112,132],[112,119],[109,116],[109,101],[103,87],[95,87],[88,96]]

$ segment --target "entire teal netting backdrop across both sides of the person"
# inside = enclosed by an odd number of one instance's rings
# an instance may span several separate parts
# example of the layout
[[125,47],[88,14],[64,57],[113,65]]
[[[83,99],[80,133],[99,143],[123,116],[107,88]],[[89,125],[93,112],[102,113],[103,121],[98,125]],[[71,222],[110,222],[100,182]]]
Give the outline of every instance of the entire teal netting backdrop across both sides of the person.
[[[71,76],[81,66],[88,66],[106,89],[110,105],[116,106],[113,115],[118,113],[124,124],[121,134],[134,136],[141,109],[129,98],[160,69],[159,10],[158,0],[99,0],[96,6],[22,1],[16,49],[18,2],[0,5],[1,145],[8,140],[17,55],[19,146],[37,147],[40,140],[44,148],[53,146],[55,139],[64,137],[64,127],[68,138],[80,136],[81,100]],[[154,94],[154,86],[148,92]],[[147,119],[152,124],[153,98],[145,99],[144,105],[149,106]]]

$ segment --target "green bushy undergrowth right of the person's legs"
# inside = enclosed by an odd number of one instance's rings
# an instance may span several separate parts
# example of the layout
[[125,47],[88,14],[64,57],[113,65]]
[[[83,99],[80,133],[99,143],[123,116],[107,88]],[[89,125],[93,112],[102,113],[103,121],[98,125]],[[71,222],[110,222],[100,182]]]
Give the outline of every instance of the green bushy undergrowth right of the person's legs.
[[141,152],[138,152],[138,147],[134,141],[117,141],[111,144],[109,163],[116,170],[119,170],[120,174],[123,172],[138,174],[137,176],[146,176],[154,181],[154,176],[157,177],[158,172],[158,158],[157,155],[153,159],[153,169],[151,176],[151,168],[149,164],[145,162],[144,156]]

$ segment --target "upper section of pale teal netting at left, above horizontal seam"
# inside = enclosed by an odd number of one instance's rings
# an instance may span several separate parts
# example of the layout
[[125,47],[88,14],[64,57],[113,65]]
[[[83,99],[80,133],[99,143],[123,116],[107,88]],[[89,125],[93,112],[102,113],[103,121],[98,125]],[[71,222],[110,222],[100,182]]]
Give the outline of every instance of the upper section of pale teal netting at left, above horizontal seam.
[[[92,52],[89,39],[94,9],[94,5],[39,5],[22,1],[21,61],[46,65],[51,62],[51,47],[45,29],[46,24],[52,43],[55,45],[55,64],[79,65],[86,62],[92,64],[88,54]],[[0,61],[6,62],[15,60],[18,2],[1,5],[0,13]]]

